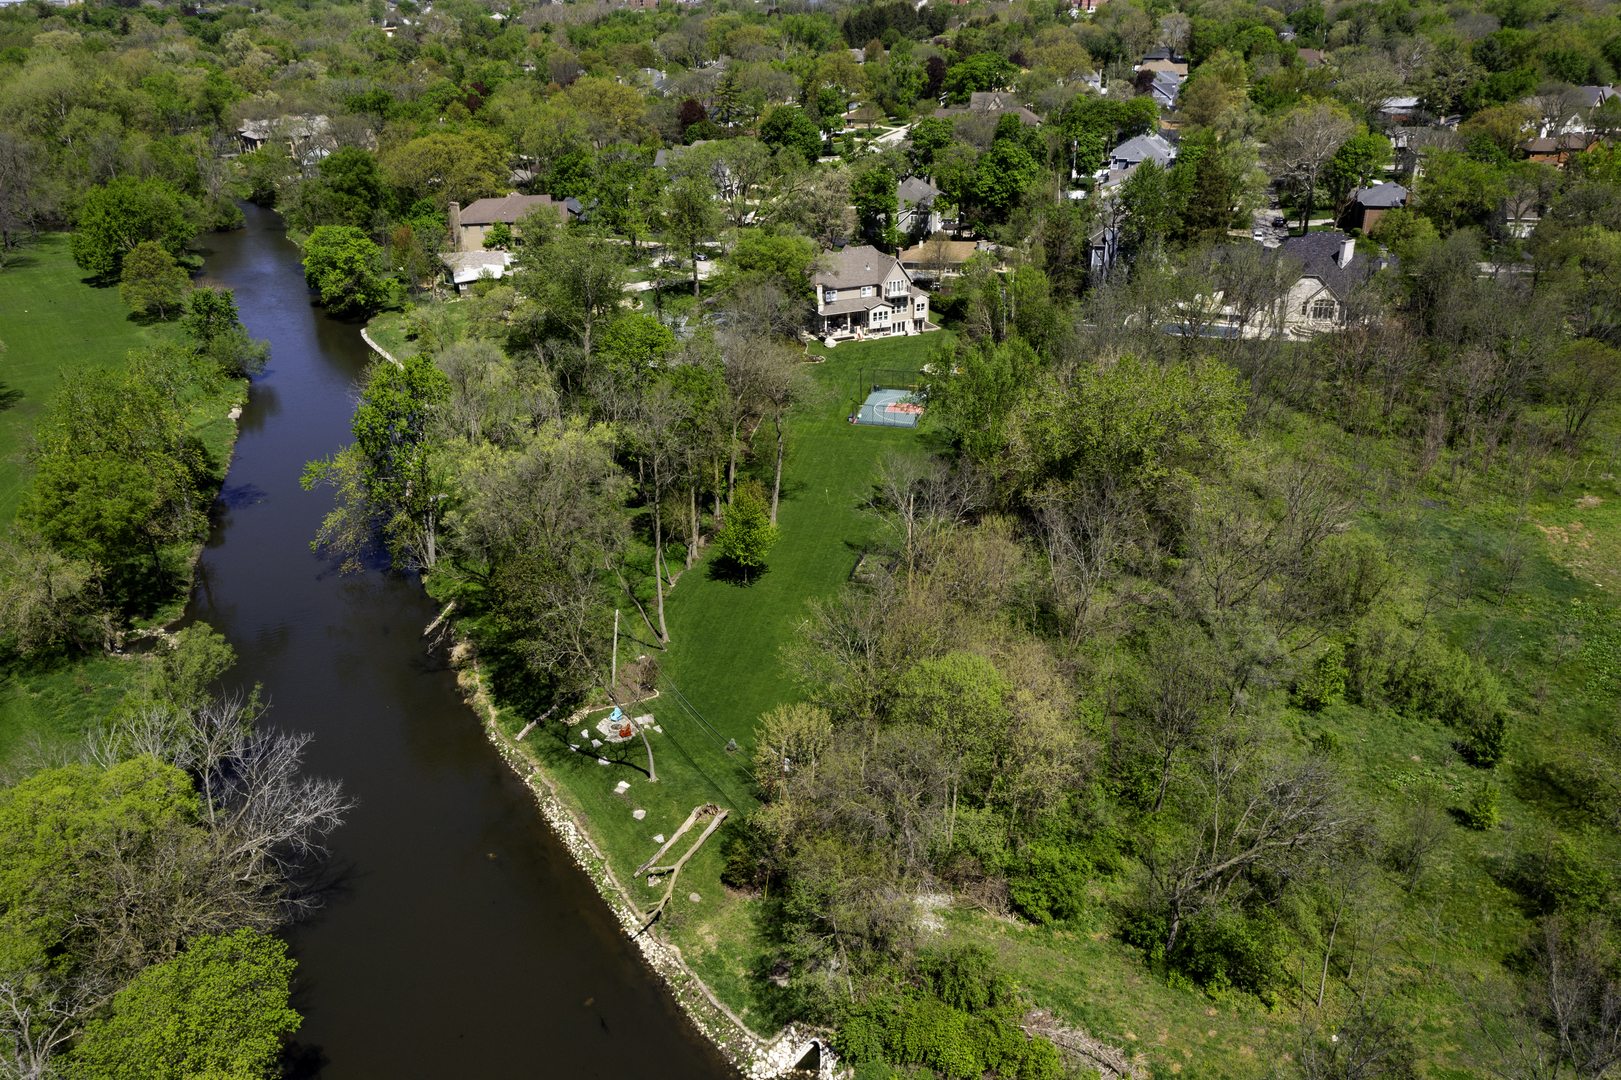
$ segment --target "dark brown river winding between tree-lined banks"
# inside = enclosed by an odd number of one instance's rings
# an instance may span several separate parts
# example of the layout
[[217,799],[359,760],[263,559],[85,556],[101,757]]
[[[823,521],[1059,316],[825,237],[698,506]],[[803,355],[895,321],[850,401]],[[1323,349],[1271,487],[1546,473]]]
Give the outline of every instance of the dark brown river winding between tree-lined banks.
[[188,611],[263,683],[269,723],[360,799],[332,842],[342,884],[289,939],[298,1075],[733,1077],[485,741],[420,639],[415,582],[339,577],[310,551],[331,495],[303,464],[349,441],[360,328],[311,306],[280,217],[211,237],[207,284],[271,342]]

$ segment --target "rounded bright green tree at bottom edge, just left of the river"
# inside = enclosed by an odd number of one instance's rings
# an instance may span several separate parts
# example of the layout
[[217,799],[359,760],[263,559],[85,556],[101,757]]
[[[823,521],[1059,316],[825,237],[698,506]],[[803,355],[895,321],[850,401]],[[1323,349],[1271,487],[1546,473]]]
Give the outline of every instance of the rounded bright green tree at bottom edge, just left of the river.
[[113,994],[71,1061],[94,1080],[248,1080],[276,1075],[282,1038],[302,1018],[289,1004],[297,963],[287,944],[243,929],[203,936]]

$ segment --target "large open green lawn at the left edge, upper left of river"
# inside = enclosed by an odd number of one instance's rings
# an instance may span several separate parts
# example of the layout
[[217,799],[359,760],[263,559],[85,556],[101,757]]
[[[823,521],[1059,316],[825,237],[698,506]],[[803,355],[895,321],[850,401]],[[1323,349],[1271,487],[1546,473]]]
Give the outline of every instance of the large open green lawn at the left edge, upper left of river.
[[117,285],[91,285],[68,255],[66,234],[47,234],[0,271],[0,522],[23,493],[19,454],[58,383],[75,371],[123,365],[131,350],[175,337],[173,323],[130,316]]

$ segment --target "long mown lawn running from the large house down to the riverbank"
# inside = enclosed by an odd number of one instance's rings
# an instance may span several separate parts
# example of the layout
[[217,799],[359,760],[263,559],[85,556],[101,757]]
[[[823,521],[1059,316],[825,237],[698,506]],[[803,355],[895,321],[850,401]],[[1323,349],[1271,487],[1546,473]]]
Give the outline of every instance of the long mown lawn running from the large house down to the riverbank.
[[[739,819],[754,808],[752,780],[746,772],[754,749],[754,726],[760,714],[799,697],[783,668],[781,647],[806,618],[806,602],[833,597],[869,543],[877,525],[861,508],[879,456],[927,438],[905,428],[851,425],[846,417],[859,401],[861,371],[921,368],[929,350],[943,337],[927,334],[845,344],[832,350],[814,345],[812,350],[825,357],[809,368],[820,394],[791,422],[778,512],[781,542],[772,551],[768,571],[744,585],[718,572],[710,548],[704,561],[681,574],[666,600],[668,654],[647,645],[647,628],[634,608],[626,606],[621,663],[645,652],[669,676],[658,699],[631,709],[634,715],[653,714],[663,728],[663,735],[650,736],[658,767],[657,785],[647,783],[647,754],[640,741],[609,754],[613,764],[598,765],[597,754],[569,749],[558,725],[528,736],[528,751],[562,783],[566,798],[588,822],[621,882],[629,884],[631,871],[658,848],[653,837],[669,837],[694,806],[713,801],[733,809]],[[754,472],[767,485],[772,438],[768,425],[755,436],[760,461]],[[679,688],[715,735],[692,718],[668,689],[671,684]],[[592,736],[597,736],[595,723],[603,715],[597,712],[590,717]],[[522,723],[522,717],[503,715],[503,728],[509,733]],[[569,736],[579,744],[580,726],[572,728]],[[736,754],[721,749],[726,739],[738,741]],[[621,780],[631,782],[622,796],[614,793]],[[645,809],[647,816],[635,821],[635,809]],[[759,955],[749,916],[754,902],[729,894],[720,884],[729,832],[728,825],[710,837],[681,871],[666,931],[721,1001],[757,1023],[760,1031],[768,1031],[775,1030],[775,1018],[768,1002],[759,997],[760,981],[749,978]],[[684,837],[668,861],[686,846]],[[663,892],[663,887],[647,887],[645,877],[632,889],[644,903]],[[697,903],[687,898],[694,892],[700,897]]]

